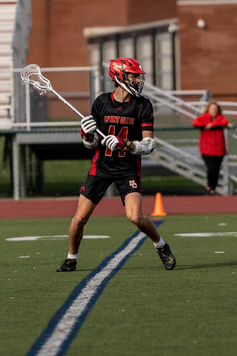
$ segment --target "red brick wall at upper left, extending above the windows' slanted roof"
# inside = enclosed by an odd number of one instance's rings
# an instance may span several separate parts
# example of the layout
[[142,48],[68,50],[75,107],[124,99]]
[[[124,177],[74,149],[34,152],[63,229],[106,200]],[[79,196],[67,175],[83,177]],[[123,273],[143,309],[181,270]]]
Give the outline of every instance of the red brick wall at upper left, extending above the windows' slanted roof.
[[84,27],[127,26],[176,16],[175,0],[31,0],[32,32],[27,63],[88,66]]

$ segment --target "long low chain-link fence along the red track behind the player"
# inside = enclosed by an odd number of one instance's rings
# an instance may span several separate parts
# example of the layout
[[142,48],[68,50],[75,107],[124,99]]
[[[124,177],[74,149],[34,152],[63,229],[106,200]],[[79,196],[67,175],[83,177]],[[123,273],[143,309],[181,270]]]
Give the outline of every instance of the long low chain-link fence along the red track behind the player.
[[[27,134],[2,135],[1,197],[11,197],[13,192],[17,199],[78,195],[91,163],[91,151],[80,142],[79,131],[37,129]],[[157,191],[166,195],[203,194],[207,185],[206,167],[198,150],[198,136],[198,130],[194,129],[155,131],[155,152],[142,157],[143,194],[153,195]],[[217,187],[220,194],[233,193],[229,179],[226,185],[226,173],[235,186],[236,156],[226,158],[227,167],[222,162]],[[229,189],[227,192],[226,186]],[[117,194],[114,190],[111,193]]]

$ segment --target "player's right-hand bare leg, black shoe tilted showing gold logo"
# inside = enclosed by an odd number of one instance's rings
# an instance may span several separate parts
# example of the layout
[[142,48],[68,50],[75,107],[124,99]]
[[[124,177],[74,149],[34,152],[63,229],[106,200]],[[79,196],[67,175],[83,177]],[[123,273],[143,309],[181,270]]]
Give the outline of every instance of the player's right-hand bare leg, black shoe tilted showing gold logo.
[[173,269],[176,259],[169,245],[162,240],[152,221],[141,212],[141,194],[134,192],[125,197],[125,209],[128,219],[153,241],[153,244],[166,269]]

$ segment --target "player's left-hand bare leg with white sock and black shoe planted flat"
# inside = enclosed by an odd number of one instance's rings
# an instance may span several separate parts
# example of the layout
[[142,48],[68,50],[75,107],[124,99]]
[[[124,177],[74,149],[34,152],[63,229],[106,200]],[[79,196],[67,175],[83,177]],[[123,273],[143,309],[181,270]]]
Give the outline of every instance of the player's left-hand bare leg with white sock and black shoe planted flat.
[[95,203],[92,203],[92,201],[84,197],[84,195],[80,195],[76,215],[72,219],[69,229],[68,258],[66,258],[61,266],[56,269],[57,272],[75,271],[78,249],[83,237],[84,226],[93,213],[95,207]]

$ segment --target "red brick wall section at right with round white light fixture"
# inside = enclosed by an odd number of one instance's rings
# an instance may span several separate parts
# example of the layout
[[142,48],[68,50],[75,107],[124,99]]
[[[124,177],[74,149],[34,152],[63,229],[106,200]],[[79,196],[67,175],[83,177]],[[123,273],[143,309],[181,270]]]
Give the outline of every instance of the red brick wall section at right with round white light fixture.
[[[217,99],[237,93],[237,4],[177,6],[181,89],[208,89]],[[197,26],[203,19],[206,28]],[[231,100],[232,100],[231,99]]]

